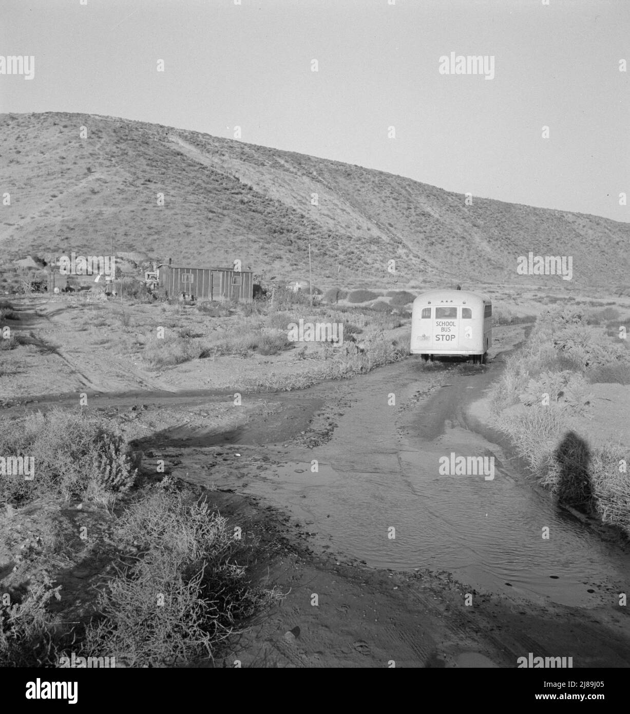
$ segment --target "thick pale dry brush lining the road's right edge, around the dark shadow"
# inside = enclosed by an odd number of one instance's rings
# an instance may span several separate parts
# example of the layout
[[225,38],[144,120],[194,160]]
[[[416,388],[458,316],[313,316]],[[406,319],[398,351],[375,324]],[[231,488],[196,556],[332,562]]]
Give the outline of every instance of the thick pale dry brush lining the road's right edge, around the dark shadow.
[[[491,392],[497,426],[514,441],[543,486],[564,503],[597,513],[630,533],[630,478],[622,468],[620,447],[596,448],[569,435],[569,416],[589,405],[589,382],[630,383],[630,359],[625,346],[587,320],[615,319],[606,309],[585,316],[576,308],[547,311],[519,353],[507,360]],[[551,403],[542,406],[543,393]],[[516,413],[504,409],[519,402]]]

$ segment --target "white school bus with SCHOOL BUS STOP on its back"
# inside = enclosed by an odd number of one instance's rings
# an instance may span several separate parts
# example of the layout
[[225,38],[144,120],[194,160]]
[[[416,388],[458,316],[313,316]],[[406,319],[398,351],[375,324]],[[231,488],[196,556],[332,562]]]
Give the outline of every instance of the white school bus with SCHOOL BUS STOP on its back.
[[413,302],[411,353],[427,361],[436,355],[486,361],[492,345],[492,301],[466,290],[432,290]]

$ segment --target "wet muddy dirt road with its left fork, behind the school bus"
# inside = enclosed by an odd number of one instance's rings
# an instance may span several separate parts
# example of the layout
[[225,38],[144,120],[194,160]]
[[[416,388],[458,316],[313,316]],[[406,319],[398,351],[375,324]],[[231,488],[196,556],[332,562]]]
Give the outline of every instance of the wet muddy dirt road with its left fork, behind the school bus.
[[[227,513],[266,509],[295,541],[265,563],[289,595],[235,645],[249,665],[515,666],[532,651],[629,666],[629,548],[554,505],[470,416],[501,369],[501,353],[487,366],[410,358],[241,406],[218,393],[93,403],[136,423],[145,463],[163,458]],[[243,407],[245,419],[205,421]],[[451,454],[492,457],[492,478],[440,473]],[[312,607],[313,592],[330,608]]]

